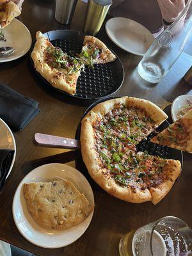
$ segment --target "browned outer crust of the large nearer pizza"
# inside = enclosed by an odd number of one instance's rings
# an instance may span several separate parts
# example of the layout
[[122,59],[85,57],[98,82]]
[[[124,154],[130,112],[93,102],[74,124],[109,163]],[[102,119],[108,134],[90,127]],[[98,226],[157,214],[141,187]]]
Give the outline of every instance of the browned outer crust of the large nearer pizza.
[[[140,190],[136,188],[132,191],[130,187],[121,186],[115,182],[113,177],[108,173],[108,170],[102,168],[102,162],[99,158],[99,153],[95,148],[95,138],[93,126],[95,122],[111,111],[116,104],[124,104],[125,106],[136,106],[144,108],[148,115],[160,125],[168,116],[152,102],[148,100],[136,99],[132,97],[121,97],[117,99],[107,100],[97,104],[92,110],[84,116],[81,122],[81,154],[83,161],[92,177],[99,186],[107,191],[110,195],[115,196],[121,200],[132,203],[142,203],[152,201],[157,204],[172,188],[175,180],[180,174],[180,162],[175,160],[168,160],[164,167],[164,172],[169,172],[172,180],[166,180],[161,186]],[[135,193],[134,193],[135,192]]]

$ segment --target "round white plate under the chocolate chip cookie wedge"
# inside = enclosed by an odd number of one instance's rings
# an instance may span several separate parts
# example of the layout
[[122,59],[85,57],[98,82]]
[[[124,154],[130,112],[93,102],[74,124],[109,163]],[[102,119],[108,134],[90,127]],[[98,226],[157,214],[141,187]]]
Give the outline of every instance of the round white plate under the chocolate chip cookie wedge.
[[73,243],[83,235],[93,216],[92,212],[82,223],[68,230],[49,230],[35,223],[27,209],[23,195],[23,184],[59,179],[73,182],[76,188],[84,193],[89,202],[94,204],[92,188],[83,174],[67,164],[59,163],[45,164],[29,172],[20,182],[13,198],[13,219],[20,234],[29,242],[44,248],[60,248]]

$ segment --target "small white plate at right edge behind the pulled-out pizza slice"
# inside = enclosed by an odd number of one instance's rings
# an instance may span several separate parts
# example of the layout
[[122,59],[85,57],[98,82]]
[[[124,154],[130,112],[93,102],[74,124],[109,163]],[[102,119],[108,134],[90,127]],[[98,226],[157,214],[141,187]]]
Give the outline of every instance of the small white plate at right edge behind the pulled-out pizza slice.
[[172,109],[171,109],[173,122],[177,120],[178,111],[180,111],[182,106],[188,103],[187,99],[189,99],[190,102],[192,102],[192,95],[189,95],[189,94],[180,95],[175,100],[173,100]]

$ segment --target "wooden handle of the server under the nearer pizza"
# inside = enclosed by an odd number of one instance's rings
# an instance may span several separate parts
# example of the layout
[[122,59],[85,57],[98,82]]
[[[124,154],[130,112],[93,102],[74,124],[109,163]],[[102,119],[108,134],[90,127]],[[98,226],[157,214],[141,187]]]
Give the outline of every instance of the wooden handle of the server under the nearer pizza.
[[38,146],[49,148],[66,148],[78,149],[80,148],[80,141],[70,138],[58,137],[49,134],[36,133],[35,142]]

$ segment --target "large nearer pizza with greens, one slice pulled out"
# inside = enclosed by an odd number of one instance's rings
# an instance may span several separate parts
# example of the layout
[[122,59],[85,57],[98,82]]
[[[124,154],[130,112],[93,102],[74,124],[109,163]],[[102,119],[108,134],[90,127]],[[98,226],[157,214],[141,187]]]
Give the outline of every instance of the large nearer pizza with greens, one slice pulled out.
[[180,162],[137,152],[168,116],[148,100],[122,97],[95,106],[81,123],[81,152],[91,177],[109,194],[157,204],[180,174]]

